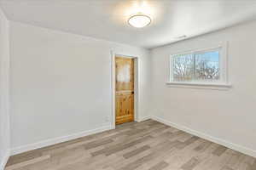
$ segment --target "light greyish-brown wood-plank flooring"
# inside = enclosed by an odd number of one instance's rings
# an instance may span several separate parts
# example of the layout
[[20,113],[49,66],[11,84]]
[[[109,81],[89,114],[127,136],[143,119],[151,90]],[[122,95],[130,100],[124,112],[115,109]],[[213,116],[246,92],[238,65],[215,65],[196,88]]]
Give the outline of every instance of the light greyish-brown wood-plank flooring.
[[256,159],[149,120],[12,156],[11,169],[256,170]]

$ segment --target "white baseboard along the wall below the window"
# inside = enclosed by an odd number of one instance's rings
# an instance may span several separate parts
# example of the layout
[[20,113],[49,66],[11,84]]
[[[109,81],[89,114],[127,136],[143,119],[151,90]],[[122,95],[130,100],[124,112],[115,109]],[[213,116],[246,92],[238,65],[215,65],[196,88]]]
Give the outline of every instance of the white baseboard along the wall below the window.
[[158,116],[151,116],[151,119],[153,119],[154,121],[157,121],[157,122],[164,123],[164,124],[166,124],[168,126],[175,127],[175,128],[177,128],[179,130],[182,130],[182,131],[184,131],[186,133],[193,134],[195,136],[200,137],[201,139],[207,139],[207,140],[212,141],[212,142],[214,142],[216,144],[224,145],[227,148],[239,151],[239,152],[241,152],[243,154],[246,154],[248,156],[256,157],[256,150],[248,149],[247,147],[241,146],[239,144],[233,144],[233,143],[231,143],[229,141],[226,141],[224,139],[218,139],[218,138],[212,137],[212,136],[210,136],[208,134],[201,133],[201,132],[195,131],[193,129],[190,129],[189,127],[184,127],[184,126],[178,125],[176,123],[166,121],[166,120],[164,120],[164,119],[162,119],[162,118],[160,118]]

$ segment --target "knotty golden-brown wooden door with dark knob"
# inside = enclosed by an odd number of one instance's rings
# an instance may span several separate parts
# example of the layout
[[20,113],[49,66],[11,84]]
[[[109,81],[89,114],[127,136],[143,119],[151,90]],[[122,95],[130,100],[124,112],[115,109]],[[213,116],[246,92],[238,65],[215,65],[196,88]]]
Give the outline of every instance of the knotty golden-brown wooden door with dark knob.
[[134,121],[134,59],[115,57],[115,124]]

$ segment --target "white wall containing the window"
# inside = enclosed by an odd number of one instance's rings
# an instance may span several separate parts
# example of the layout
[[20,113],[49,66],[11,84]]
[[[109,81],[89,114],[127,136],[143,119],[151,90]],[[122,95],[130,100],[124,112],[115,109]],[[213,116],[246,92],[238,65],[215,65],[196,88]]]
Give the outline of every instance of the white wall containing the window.
[[[152,54],[151,113],[208,139],[256,156],[256,21],[165,47]],[[227,91],[168,88],[170,54],[229,42]]]

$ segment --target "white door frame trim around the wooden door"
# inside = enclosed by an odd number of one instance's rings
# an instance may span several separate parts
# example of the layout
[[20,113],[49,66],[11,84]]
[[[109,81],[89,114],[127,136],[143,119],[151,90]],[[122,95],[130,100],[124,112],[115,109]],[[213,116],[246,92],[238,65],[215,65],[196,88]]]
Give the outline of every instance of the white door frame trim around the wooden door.
[[125,54],[118,54],[114,51],[111,51],[111,64],[112,64],[112,71],[111,71],[111,90],[112,90],[112,127],[115,128],[115,57],[124,57],[127,59],[134,59],[134,121],[137,122],[138,116],[138,57],[125,55]]

